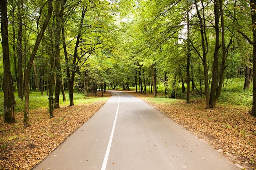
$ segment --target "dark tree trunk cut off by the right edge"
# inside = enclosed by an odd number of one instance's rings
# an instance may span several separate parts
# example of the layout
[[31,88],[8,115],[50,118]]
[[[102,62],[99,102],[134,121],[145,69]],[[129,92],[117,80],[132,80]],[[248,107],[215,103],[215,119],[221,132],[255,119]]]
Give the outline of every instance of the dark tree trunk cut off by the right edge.
[[252,30],[253,30],[253,94],[252,94],[252,115],[256,116],[256,0],[250,0],[252,7]]

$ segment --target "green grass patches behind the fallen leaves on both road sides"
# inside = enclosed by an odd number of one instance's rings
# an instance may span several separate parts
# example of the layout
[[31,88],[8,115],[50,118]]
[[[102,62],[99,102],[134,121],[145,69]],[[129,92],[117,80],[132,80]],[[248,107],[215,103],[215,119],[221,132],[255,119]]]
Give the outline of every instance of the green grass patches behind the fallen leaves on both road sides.
[[[243,106],[246,108],[251,109],[252,108],[252,84],[251,88],[247,90],[243,90],[243,84],[244,84],[244,78],[233,78],[229,79],[228,81],[225,81],[225,89],[222,87],[222,92],[219,97],[219,103],[222,104],[232,104],[232,105],[238,105],[238,106]],[[185,84],[186,86],[186,84]],[[197,88],[200,88],[197,86]],[[130,90],[135,90],[135,87],[130,87]],[[149,92],[150,88],[147,87],[147,94],[150,94]],[[176,89],[177,90],[177,87]],[[164,95],[164,85],[159,84],[157,88],[157,97],[150,98],[151,102],[156,102],[156,103],[170,103],[170,102],[175,102],[177,100],[175,99],[170,99],[169,97],[171,96],[171,90],[168,91],[167,95]],[[24,111],[24,102],[21,101],[18,98],[18,93],[16,92],[15,94],[16,97],[16,106],[15,106],[15,111],[20,112]],[[60,95],[60,105],[65,106],[69,105],[69,93],[68,91],[65,91],[66,99],[67,102],[63,102],[62,100],[62,95]],[[191,99],[195,98],[205,98],[205,96],[200,96],[196,91],[191,91],[190,95]],[[0,99],[2,103],[0,103],[0,116],[4,114],[3,110],[3,99],[4,99],[4,93],[0,92]],[[101,97],[89,97],[87,99],[83,93],[77,93],[77,91],[74,91],[74,104],[83,104],[83,103],[91,103],[91,102],[97,102],[101,101],[103,98]],[[182,93],[182,86],[180,84],[177,92],[177,99],[186,99],[186,93]],[[44,95],[41,95],[40,92],[31,92],[29,94],[29,110],[35,109],[35,108],[47,108],[49,106],[49,100],[48,97],[46,96],[46,93]]]

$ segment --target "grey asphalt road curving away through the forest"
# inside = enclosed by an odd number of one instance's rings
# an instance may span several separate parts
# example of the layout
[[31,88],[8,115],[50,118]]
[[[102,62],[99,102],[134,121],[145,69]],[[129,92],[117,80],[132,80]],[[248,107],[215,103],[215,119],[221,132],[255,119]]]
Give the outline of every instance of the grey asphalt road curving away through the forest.
[[115,91],[34,170],[240,170],[152,106]]

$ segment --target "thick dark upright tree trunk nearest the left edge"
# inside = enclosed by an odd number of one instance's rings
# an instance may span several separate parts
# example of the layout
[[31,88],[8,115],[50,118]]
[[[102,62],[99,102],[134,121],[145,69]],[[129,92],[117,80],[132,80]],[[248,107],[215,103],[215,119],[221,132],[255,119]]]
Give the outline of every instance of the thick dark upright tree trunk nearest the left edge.
[[0,1],[1,11],[1,35],[2,35],[2,52],[4,62],[4,122],[13,123],[15,121],[14,105],[15,97],[11,81],[11,66],[9,58],[8,42],[8,17],[7,17],[7,0]]

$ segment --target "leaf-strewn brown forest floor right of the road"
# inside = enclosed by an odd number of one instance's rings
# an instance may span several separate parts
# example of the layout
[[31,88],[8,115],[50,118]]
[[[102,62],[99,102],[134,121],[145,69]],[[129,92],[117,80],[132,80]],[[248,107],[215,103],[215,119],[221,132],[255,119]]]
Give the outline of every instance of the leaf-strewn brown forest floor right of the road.
[[[248,108],[218,104],[206,109],[205,99],[152,102],[152,94],[130,93],[205,139],[213,148],[244,170],[256,170],[256,118]],[[171,100],[171,99],[170,99]]]

